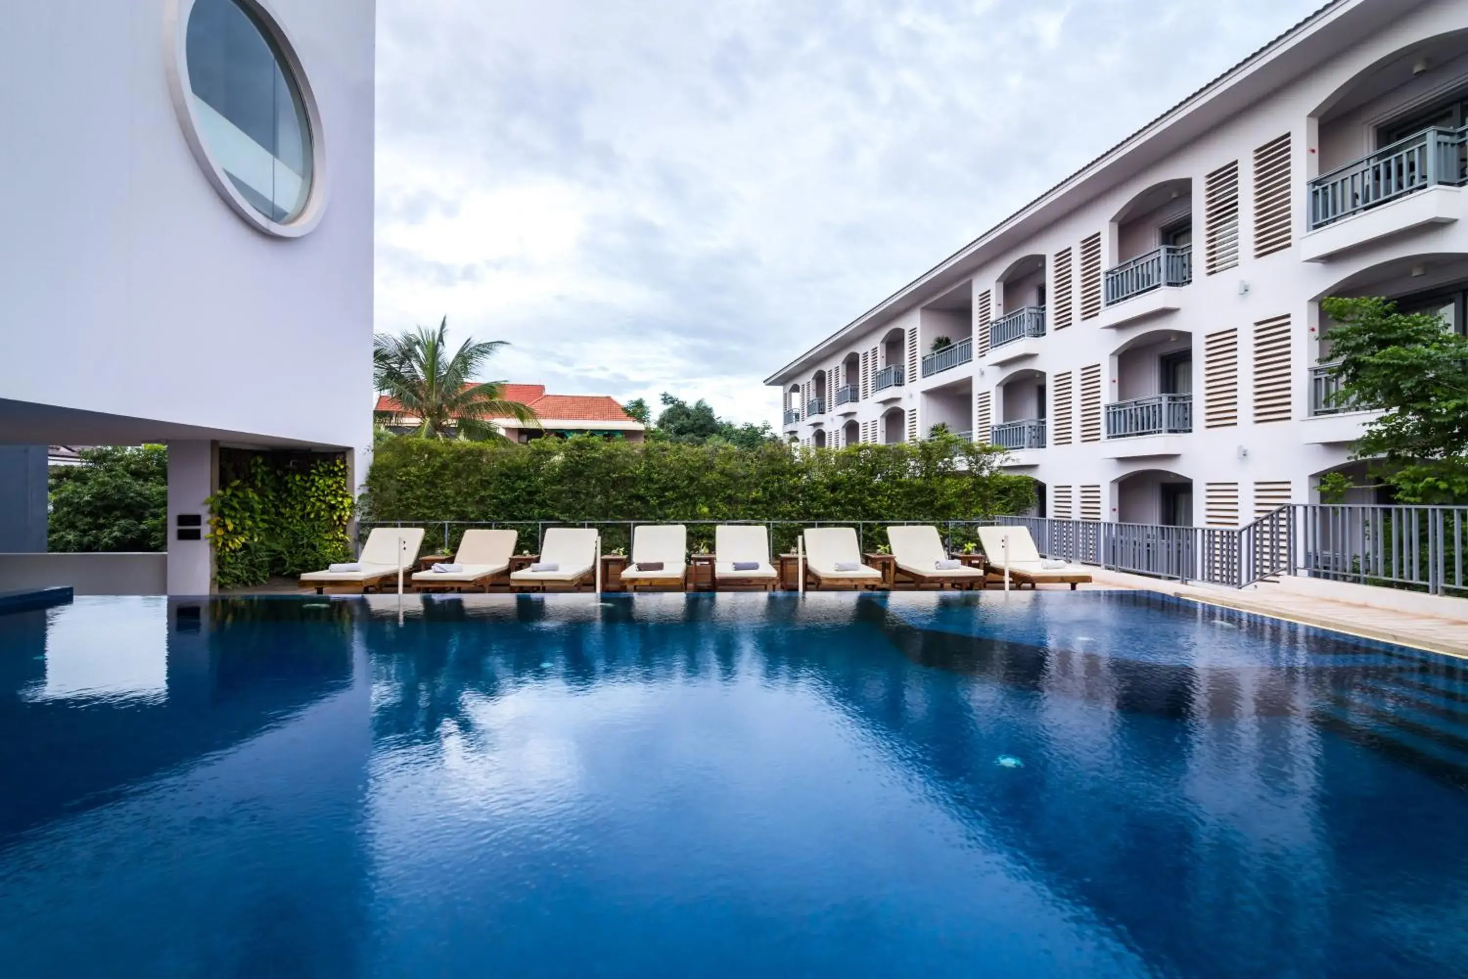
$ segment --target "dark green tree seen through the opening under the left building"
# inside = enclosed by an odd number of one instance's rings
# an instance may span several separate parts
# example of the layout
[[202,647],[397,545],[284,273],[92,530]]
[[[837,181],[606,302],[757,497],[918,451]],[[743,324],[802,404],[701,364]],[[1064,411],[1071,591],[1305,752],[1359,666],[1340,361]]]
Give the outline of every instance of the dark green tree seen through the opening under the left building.
[[78,452],[51,468],[47,547],[62,552],[166,550],[169,451],[161,445]]

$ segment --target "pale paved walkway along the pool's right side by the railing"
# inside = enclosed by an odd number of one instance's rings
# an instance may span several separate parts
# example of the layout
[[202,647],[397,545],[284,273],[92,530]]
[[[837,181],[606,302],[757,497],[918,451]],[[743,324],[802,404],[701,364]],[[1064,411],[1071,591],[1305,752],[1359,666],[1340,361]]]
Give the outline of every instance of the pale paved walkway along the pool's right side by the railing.
[[1248,592],[1196,587],[1113,571],[1098,571],[1097,584],[1164,592],[1193,602],[1221,605],[1242,612],[1257,612],[1290,622],[1349,633],[1351,636],[1468,658],[1468,618],[1368,608],[1292,592],[1271,592],[1268,587]]

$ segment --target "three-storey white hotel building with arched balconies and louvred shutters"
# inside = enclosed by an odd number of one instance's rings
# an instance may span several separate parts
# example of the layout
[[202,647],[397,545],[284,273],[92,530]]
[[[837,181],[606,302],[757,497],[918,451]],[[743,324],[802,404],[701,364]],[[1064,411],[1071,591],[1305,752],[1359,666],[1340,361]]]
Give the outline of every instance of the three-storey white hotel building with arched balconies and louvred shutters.
[[945,424],[1010,449],[1057,518],[1314,502],[1370,418],[1327,398],[1320,299],[1464,330],[1465,116],[1468,0],[1329,3],[775,371],[782,432]]

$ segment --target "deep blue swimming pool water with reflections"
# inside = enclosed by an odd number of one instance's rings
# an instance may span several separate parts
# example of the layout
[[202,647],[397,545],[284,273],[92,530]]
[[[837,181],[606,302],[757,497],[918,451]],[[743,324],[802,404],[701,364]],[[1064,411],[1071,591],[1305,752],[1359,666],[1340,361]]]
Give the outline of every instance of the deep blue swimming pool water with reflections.
[[0,616],[0,972],[1468,975],[1468,675],[1152,594]]

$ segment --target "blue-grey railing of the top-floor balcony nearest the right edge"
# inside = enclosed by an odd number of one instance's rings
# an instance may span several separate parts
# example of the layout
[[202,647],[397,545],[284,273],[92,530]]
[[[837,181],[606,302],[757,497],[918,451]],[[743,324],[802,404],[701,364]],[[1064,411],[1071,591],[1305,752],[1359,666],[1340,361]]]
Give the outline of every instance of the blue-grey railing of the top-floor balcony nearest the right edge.
[[1395,201],[1428,186],[1468,179],[1468,126],[1433,126],[1309,182],[1309,228]]

